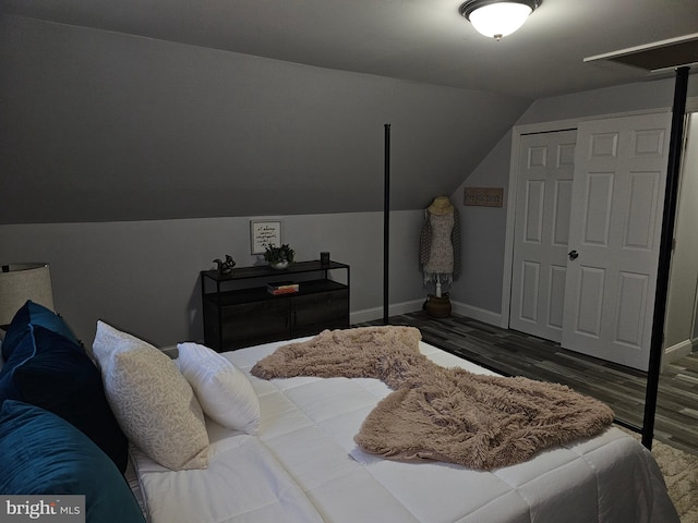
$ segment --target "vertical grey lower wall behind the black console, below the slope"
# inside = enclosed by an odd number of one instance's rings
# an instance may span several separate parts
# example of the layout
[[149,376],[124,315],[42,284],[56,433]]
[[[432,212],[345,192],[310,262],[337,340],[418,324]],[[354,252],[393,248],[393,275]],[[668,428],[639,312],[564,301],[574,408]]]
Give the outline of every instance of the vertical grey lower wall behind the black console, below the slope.
[[[390,217],[392,314],[419,308],[425,295],[417,264],[422,216]],[[263,218],[282,220],[299,260],[329,251],[351,266],[352,321],[383,317],[382,212]],[[0,254],[50,264],[56,308],[86,344],[97,319],[157,345],[202,340],[198,272],[225,254],[240,267],[261,258],[250,254],[250,217],[0,226]]]

